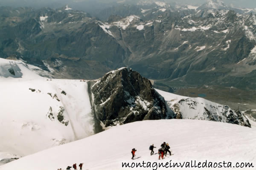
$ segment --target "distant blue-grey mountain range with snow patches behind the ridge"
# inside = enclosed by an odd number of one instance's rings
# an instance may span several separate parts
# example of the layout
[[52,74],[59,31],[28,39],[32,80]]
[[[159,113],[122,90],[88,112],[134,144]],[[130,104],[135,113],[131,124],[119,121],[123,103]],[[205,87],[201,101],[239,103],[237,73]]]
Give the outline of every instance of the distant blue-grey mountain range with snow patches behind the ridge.
[[66,8],[1,7],[0,56],[22,58],[56,78],[97,79],[128,66],[170,91],[255,90],[256,15],[248,10],[218,0],[198,7],[120,3],[99,11],[100,20]]

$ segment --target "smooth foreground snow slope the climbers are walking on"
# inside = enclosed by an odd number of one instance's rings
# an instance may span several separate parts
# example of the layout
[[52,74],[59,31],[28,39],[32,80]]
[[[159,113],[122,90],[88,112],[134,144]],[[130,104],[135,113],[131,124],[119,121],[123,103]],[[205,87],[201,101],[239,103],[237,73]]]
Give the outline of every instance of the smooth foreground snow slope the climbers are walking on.
[[[57,170],[81,162],[87,170],[121,170],[125,169],[121,167],[122,161],[131,161],[133,147],[137,149],[137,157],[141,157],[135,162],[247,161],[255,166],[255,136],[255,129],[220,122],[188,119],[134,122],[26,156],[1,166],[0,170]],[[154,143],[156,152],[164,141],[174,155],[164,160],[150,156],[148,147]]]

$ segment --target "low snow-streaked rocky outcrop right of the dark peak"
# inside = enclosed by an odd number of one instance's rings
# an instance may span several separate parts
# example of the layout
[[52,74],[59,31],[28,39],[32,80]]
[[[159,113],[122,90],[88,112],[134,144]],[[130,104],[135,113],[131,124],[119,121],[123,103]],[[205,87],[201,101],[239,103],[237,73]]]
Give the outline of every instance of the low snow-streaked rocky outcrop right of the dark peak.
[[168,103],[177,119],[201,119],[251,127],[248,119],[239,110],[232,110],[229,106],[206,99],[187,98],[174,104]]

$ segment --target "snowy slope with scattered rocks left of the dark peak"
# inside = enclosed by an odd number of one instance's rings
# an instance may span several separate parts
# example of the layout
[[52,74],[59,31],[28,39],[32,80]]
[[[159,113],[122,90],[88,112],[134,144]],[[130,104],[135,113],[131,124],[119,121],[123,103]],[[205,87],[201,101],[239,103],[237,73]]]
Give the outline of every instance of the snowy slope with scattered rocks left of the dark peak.
[[47,79],[38,70],[0,59],[0,160],[94,134],[87,82]]

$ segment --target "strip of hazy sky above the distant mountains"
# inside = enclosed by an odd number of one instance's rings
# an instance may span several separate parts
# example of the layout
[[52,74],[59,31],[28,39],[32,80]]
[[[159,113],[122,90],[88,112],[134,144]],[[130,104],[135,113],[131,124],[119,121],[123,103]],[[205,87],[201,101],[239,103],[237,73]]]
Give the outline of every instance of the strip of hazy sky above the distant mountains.
[[[54,6],[61,7],[65,4],[72,5],[75,2],[97,2],[99,3],[111,3],[121,0],[0,0],[0,6],[33,6],[33,7],[43,7],[43,6]],[[131,1],[131,0],[129,0]],[[133,0],[138,1],[138,0]],[[150,0],[152,1],[152,0]],[[156,0],[157,1],[157,0]],[[187,3],[187,4],[202,4],[207,2],[207,0],[159,0],[166,2],[176,2],[176,3]],[[242,8],[256,8],[256,0],[222,0],[227,5],[242,7]]]

